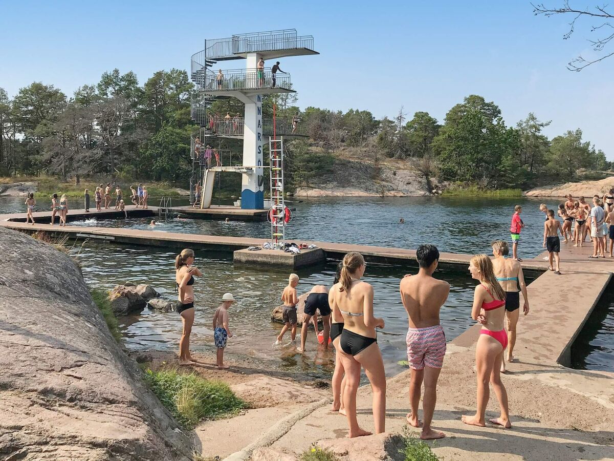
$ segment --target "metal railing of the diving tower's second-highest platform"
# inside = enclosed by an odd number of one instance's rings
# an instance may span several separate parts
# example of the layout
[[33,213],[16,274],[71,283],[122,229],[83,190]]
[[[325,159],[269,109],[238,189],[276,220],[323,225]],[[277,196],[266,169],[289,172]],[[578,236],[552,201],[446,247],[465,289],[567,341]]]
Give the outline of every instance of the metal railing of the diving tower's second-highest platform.
[[290,74],[276,74],[273,82],[271,68],[267,67],[263,71],[258,69],[231,69],[222,72],[220,76],[208,69],[192,74],[192,80],[206,92],[210,91],[229,91],[229,90],[258,90],[261,88],[277,87],[284,90],[291,90]]

